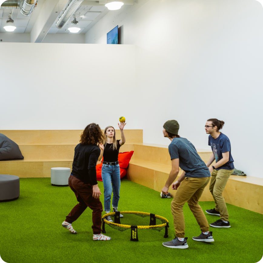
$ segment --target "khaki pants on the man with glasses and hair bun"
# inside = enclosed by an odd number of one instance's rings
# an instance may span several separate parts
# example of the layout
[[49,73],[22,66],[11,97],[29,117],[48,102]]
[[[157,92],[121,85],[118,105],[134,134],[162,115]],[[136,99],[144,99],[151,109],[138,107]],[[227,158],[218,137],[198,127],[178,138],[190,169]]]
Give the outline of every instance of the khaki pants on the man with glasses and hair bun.
[[234,170],[220,169],[218,171],[213,170],[211,173],[209,190],[215,200],[215,210],[220,212],[220,218],[224,221],[228,221],[229,215],[222,192],[233,171]]

